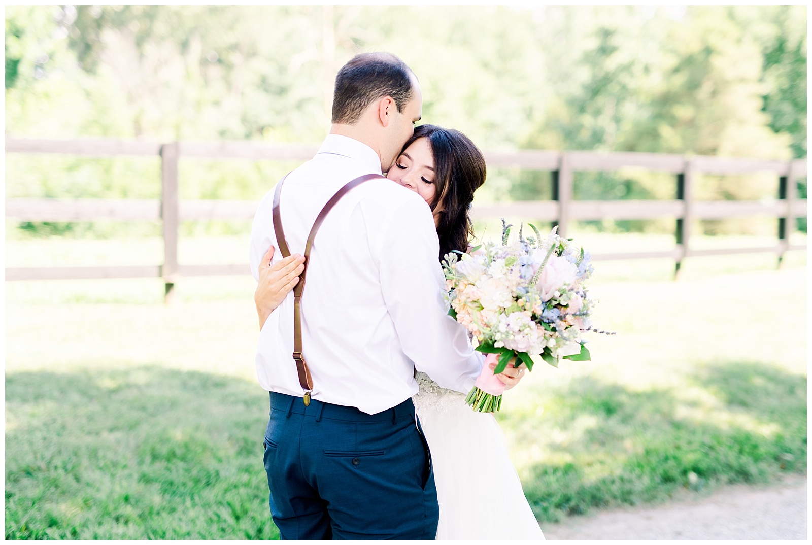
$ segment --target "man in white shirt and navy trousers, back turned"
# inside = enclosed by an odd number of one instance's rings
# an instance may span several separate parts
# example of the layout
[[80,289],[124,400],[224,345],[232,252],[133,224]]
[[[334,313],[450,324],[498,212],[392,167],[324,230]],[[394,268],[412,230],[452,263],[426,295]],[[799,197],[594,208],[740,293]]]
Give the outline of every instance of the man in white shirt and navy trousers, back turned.
[[[389,170],[421,110],[420,84],[400,58],[360,54],[341,68],[330,134],[280,194],[292,252],[302,252],[339,188]],[[257,279],[278,244],[273,197],[259,205],[251,233]],[[437,494],[411,400],[414,370],[467,392],[483,362],[447,316],[438,253],[434,219],[416,192],[374,179],[338,201],[313,244],[301,299],[309,404],[292,358],[293,297],[266,319],[257,377],[270,392],[265,467],[283,539],[434,539]],[[276,252],[272,262],[280,259]]]

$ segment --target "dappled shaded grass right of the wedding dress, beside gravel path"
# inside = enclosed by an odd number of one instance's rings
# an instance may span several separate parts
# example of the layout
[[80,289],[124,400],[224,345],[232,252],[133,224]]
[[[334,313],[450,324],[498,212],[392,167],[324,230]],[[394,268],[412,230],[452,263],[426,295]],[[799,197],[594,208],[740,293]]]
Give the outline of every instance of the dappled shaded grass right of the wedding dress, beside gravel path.
[[548,443],[551,461],[525,478],[537,517],[559,521],[680,489],[806,472],[806,377],[729,362],[706,365],[693,382],[699,394],[691,396],[580,378],[543,400],[542,418],[503,418],[521,430],[519,440],[556,431],[563,438]]

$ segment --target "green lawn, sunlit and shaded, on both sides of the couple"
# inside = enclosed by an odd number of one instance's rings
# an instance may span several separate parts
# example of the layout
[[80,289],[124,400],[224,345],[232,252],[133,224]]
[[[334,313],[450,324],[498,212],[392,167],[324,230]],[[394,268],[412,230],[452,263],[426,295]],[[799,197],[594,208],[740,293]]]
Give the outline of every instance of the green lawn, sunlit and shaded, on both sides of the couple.
[[[75,242],[15,240],[6,264],[156,251]],[[659,241],[589,241],[595,252],[638,243]],[[245,248],[240,237],[187,244],[186,262]],[[595,264],[596,325],[618,334],[590,340],[594,361],[536,366],[499,413],[542,529],[806,473],[806,257],[786,262],[689,259],[677,282],[668,260]],[[6,538],[277,536],[253,287],[184,279],[165,306],[158,279],[6,283]]]

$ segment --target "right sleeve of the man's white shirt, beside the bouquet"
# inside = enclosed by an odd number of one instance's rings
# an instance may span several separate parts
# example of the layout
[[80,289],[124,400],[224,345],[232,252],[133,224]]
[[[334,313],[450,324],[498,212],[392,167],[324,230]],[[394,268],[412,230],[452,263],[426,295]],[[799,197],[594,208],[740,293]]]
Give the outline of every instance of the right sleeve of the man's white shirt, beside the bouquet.
[[410,199],[389,220],[380,246],[381,289],[401,347],[415,369],[440,387],[468,393],[485,357],[448,315],[431,210],[425,201]]

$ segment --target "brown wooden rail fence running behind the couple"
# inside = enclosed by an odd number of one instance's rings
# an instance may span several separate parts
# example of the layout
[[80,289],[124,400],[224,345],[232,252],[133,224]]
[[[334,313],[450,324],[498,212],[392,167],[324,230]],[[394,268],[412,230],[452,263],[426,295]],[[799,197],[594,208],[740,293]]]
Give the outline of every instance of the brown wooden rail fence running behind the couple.
[[[24,140],[6,139],[6,154],[68,154],[93,158],[145,156],[161,158],[162,197],[152,199],[6,199],[6,217],[32,222],[77,222],[97,219],[122,221],[161,220],[164,240],[162,265],[6,268],[6,280],[101,279],[161,277],[166,293],[184,276],[243,275],[248,265],[183,265],[178,262],[180,220],[253,218],[257,201],[180,201],[178,197],[179,158],[240,158],[249,161],[305,161],[316,154],[310,145],[271,145],[251,141],[171,142],[158,144],[118,140]],[[671,257],[676,271],[685,257],[729,253],[770,252],[779,257],[806,244],[790,245],[795,218],[806,217],[806,199],[796,196],[797,180],[806,178],[806,160],[767,161],[749,158],[685,157],[675,154],[598,153],[587,151],[520,150],[512,153],[486,153],[489,167],[520,167],[551,171],[553,190],[549,201],[518,201],[496,205],[475,205],[476,219],[523,217],[551,221],[566,235],[568,225],[577,220],[676,218],[676,244],[657,252],[595,254],[599,259]],[[574,171],[615,171],[642,167],[676,176],[673,200],[577,201],[572,198]],[[693,183],[699,174],[736,175],[770,172],[778,177],[774,201],[697,201]],[[719,219],[767,214],[777,218],[777,244],[771,247],[736,249],[692,249],[689,245],[693,219]]]

